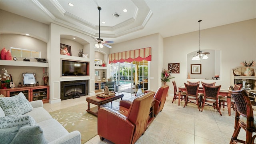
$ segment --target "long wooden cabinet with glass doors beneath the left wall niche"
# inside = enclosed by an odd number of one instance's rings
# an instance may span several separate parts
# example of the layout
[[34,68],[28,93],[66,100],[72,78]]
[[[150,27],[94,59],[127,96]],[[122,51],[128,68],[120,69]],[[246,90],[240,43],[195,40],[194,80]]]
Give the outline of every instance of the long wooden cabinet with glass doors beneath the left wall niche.
[[28,101],[42,100],[44,103],[49,102],[49,86],[29,86],[22,88],[0,89],[0,94],[4,96],[15,96],[22,92]]

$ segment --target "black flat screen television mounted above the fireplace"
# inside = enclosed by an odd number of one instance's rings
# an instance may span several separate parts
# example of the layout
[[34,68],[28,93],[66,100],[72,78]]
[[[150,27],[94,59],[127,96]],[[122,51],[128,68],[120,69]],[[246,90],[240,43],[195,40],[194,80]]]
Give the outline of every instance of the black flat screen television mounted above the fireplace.
[[62,76],[89,76],[89,62],[61,60]]

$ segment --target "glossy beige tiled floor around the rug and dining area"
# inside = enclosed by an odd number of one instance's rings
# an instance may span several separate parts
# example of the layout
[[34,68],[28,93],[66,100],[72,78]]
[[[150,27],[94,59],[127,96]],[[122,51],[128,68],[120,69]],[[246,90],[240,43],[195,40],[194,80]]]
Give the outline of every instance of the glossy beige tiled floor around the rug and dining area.
[[[131,94],[125,94],[123,99],[131,97]],[[84,103],[87,109],[85,98],[86,96],[82,96],[62,100],[56,104],[46,103],[44,108],[51,112]],[[178,100],[172,103],[172,96],[168,96],[164,109],[136,144],[229,144],[234,131],[233,110],[231,116],[228,116],[227,108],[222,108],[222,116],[220,116],[218,111],[210,106],[205,106],[204,111],[199,112],[195,104],[188,103],[185,108],[183,105],[184,101],[178,106]],[[238,137],[245,139],[244,130],[241,130]],[[106,139],[101,141],[97,135],[86,144],[112,144],[112,142]]]

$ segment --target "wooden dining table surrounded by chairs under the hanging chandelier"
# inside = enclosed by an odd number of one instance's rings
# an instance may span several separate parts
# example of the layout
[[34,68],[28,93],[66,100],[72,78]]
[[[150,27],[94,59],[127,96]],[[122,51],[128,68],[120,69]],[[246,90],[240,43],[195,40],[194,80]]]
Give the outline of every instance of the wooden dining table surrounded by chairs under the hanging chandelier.
[[[178,105],[180,106],[180,95],[181,95],[181,92],[186,92],[186,88],[185,88],[185,86],[180,86],[180,87],[178,87],[178,89],[179,89]],[[202,87],[199,87],[198,93],[203,94],[204,89]],[[220,92],[218,95],[227,97],[228,116],[231,116],[231,94],[230,94],[230,92],[228,92],[228,90],[225,90],[225,89],[220,89]]]

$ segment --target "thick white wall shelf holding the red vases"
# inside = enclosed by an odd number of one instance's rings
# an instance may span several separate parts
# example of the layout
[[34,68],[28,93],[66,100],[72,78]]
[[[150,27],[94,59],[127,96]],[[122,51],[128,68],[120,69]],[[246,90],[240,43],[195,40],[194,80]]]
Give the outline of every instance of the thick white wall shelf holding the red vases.
[[44,62],[26,62],[14,60],[0,60],[1,66],[34,66],[34,67],[49,67],[49,63]]

